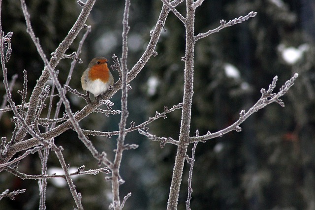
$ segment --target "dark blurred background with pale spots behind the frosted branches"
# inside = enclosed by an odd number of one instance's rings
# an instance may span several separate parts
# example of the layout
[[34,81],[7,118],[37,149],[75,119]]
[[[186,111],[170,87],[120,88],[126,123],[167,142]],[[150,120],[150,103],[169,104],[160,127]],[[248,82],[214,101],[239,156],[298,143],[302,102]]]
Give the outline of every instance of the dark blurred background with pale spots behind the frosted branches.
[[[124,0],[98,0],[88,19],[92,32],[84,43],[70,86],[83,92],[80,76],[89,61],[105,56],[113,64],[112,54],[121,57],[122,19]],[[154,29],[162,3],[160,0],[131,0],[128,36],[128,67],[137,62],[144,52],[150,30]],[[6,64],[8,76],[18,74],[13,90],[16,104],[23,87],[23,70],[28,72],[28,98],[36,79],[43,70],[26,25],[20,1],[2,0],[2,30],[13,32],[12,55]],[[177,9],[185,16],[185,3]],[[80,6],[75,0],[28,1],[32,27],[39,37],[47,57],[58,47],[75,22]],[[294,73],[299,73],[295,85],[282,98],[285,107],[271,104],[253,114],[241,124],[242,132],[231,132],[221,138],[199,143],[195,154],[192,177],[193,210],[314,210],[315,209],[315,1],[314,0],[205,0],[196,10],[195,34],[215,29],[220,20],[245,16],[251,11],[257,15],[248,21],[221,30],[196,43],[194,64],[194,95],[191,133],[221,130],[239,118],[241,110],[248,110],[260,98],[261,88],[268,89],[278,75],[279,88]],[[129,124],[148,120],[155,112],[163,112],[183,100],[185,28],[170,12],[161,33],[156,51],[128,91]],[[85,31],[67,51],[76,51]],[[62,60],[62,84],[66,80],[71,60]],[[3,78],[2,72],[0,73]],[[115,81],[118,72],[113,72]],[[2,80],[2,79],[1,79]],[[4,95],[3,84],[0,94]],[[120,94],[111,99],[113,109],[120,109]],[[83,108],[86,102],[68,93],[72,111]],[[54,104],[58,102],[54,99]],[[55,106],[54,106],[55,107]],[[63,110],[62,110],[63,112]],[[62,112],[60,116],[62,116]],[[0,119],[0,136],[10,139],[14,123],[12,113]],[[45,113],[43,112],[43,116]],[[167,115],[149,125],[149,131],[160,137],[178,139],[181,111]],[[80,122],[83,129],[118,130],[120,116],[104,117],[91,114]],[[97,150],[105,150],[113,159],[117,136],[90,136]],[[97,168],[90,152],[77,135],[68,130],[55,139],[63,146],[65,161],[75,171],[81,165],[86,170]],[[131,192],[126,210],[166,209],[176,147],[152,142],[137,131],[128,133],[126,143],[138,144],[136,150],[124,152],[121,175],[121,198]],[[189,147],[188,154],[191,154]],[[51,152],[50,170],[60,164]],[[19,164],[26,174],[40,174],[38,154],[29,155]],[[186,209],[189,165],[184,168],[179,197],[179,210]],[[61,179],[56,179],[60,181]],[[47,209],[68,210],[75,207],[70,191],[64,183],[49,180]],[[111,202],[111,185],[104,175],[76,177],[74,183],[82,194],[86,209],[105,210]],[[4,171],[0,174],[0,192],[5,189],[27,189],[15,200],[3,198],[1,208],[6,210],[38,209],[37,180],[21,180]]]

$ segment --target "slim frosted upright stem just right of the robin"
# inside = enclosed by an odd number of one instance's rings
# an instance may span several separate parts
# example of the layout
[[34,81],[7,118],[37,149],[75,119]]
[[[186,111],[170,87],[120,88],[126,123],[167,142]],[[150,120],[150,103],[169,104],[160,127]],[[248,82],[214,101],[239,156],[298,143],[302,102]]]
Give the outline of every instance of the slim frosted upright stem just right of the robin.
[[119,185],[120,185],[120,164],[123,157],[124,151],[124,142],[125,142],[125,129],[126,129],[126,120],[128,117],[128,110],[127,110],[127,56],[128,56],[128,46],[127,46],[127,35],[129,31],[128,26],[128,17],[129,17],[129,7],[130,7],[130,0],[126,0],[125,10],[124,10],[124,19],[123,19],[123,52],[122,52],[122,114],[119,124],[119,136],[117,140],[117,150],[115,155],[115,160],[112,167],[112,190],[113,190],[113,203],[112,207],[114,210],[121,209],[120,199],[119,199]]

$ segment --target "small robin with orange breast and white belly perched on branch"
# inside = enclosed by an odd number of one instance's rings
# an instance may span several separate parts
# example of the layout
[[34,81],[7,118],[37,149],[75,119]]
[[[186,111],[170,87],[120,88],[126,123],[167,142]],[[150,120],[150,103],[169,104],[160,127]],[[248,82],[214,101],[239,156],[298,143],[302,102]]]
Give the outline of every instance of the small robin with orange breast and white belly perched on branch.
[[114,84],[113,75],[110,73],[107,63],[109,61],[104,57],[96,57],[91,60],[88,68],[81,77],[82,89],[92,92],[98,96]]

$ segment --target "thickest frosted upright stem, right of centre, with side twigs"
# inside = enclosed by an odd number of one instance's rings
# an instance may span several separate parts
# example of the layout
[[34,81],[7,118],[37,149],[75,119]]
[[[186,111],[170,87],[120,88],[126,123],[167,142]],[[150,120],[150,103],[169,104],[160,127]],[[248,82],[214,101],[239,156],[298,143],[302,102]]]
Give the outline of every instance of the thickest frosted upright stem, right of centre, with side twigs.
[[193,53],[194,53],[194,13],[193,0],[186,0],[186,52],[183,60],[185,61],[185,81],[184,81],[184,99],[181,129],[179,135],[179,145],[175,158],[172,183],[170,187],[167,209],[177,209],[179,189],[183,176],[183,168],[187,147],[189,145],[189,129],[191,118],[191,102],[193,95]]

